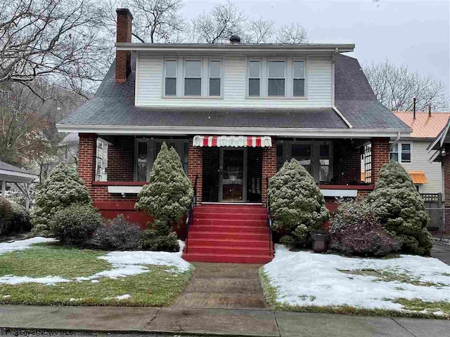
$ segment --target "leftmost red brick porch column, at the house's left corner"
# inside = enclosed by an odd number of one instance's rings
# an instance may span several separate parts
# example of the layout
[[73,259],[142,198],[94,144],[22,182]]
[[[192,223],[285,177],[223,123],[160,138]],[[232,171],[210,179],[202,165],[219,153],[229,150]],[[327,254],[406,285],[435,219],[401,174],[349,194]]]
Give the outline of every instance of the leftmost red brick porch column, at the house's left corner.
[[95,133],[79,133],[78,174],[84,180],[89,193],[96,171],[96,140]]

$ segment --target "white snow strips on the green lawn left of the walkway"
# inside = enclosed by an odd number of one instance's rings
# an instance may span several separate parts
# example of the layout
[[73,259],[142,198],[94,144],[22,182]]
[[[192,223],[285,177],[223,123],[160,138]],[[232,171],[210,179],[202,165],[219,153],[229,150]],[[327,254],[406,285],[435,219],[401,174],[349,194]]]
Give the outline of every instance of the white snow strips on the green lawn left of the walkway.
[[[4,243],[0,244],[0,253],[27,249],[30,248],[31,244],[37,244],[38,242],[53,241],[55,241],[55,239],[34,237],[32,239]],[[144,272],[150,272],[148,267],[145,265],[167,265],[168,267],[172,267],[173,272],[185,272],[189,270],[191,264],[181,258],[183,255],[184,242],[179,240],[179,244],[180,250],[176,253],[168,253],[165,251],[112,251],[106,256],[100,256],[99,258],[107,260],[111,263],[111,265],[113,265],[113,269],[103,270],[102,272],[97,272],[96,274],[88,277],[76,277],[75,281],[90,281],[92,283],[97,283],[99,282],[98,279],[101,279],[102,277],[117,279],[118,277],[127,277],[143,274]],[[63,277],[58,276],[19,277],[5,275],[0,277],[0,284],[39,283],[53,285],[56,283],[72,281],[74,281],[74,279],[64,279]]]

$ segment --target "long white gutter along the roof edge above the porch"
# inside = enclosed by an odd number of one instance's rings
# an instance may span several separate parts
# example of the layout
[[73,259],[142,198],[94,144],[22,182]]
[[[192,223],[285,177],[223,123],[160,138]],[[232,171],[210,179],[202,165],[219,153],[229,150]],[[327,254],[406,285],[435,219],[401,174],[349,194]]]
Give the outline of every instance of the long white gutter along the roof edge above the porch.
[[246,135],[314,138],[393,138],[408,136],[410,129],[392,128],[248,128],[216,126],[117,126],[56,124],[59,132],[97,133],[99,135]]

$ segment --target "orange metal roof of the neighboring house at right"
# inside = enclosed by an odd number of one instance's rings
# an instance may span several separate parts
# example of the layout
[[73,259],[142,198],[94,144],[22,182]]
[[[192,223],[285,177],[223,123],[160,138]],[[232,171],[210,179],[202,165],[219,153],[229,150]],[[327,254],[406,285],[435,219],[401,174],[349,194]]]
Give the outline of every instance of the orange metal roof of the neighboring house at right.
[[432,112],[429,117],[428,112],[416,112],[416,119],[413,112],[394,112],[404,123],[413,129],[413,138],[435,138],[446,126],[450,117],[450,112]]

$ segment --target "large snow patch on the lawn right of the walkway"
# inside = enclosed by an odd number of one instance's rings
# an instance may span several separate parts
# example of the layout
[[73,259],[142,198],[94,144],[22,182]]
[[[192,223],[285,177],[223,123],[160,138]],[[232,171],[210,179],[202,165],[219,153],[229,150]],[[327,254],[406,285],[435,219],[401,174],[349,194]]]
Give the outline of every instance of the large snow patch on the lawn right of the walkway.
[[[339,270],[373,269],[408,275],[440,286],[382,282],[378,277],[350,275]],[[289,251],[276,245],[275,258],[264,272],[277,289],[276,300],[289,305],[350,305],[356,308],[402,310],[395,298],[450,302],[450,266],[436,258],[346,258],[309,251]],[[450,314],[447,312],[446,314]]]

